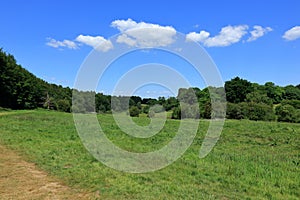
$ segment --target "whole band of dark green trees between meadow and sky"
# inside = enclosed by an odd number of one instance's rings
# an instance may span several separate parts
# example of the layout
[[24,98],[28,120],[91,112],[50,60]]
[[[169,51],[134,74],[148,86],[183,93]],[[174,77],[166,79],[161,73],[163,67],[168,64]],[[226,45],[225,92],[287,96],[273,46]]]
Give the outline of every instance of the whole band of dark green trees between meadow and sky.
[[[235,77],[225,82],[224,88],[181,88],[177,97],[141,98],[115,97],[96,92],[73,91],[69,87],[50,84],[18,65],[15,58],[0,49],[0,107],[11,109],[45,108],[64,112],[127,111],[131,116],[172,111],[172,118],[211,118],[211,95],[220,106],[227,107],[229,119],[300,122],[300,84],[264,85]],[[72,106],[72,93],[80,93],[80,104]],[[193,94],[193,95],[191,95]],[[93,98],[90,98],[90,97]],[[95,102],[90,102],[93,99]],[[227,99],[227,102],[222,101]],[[180,103],[179,103],[180,102]],[[195,104],[197,103],[197,104]],[[84,106],[80,106],[84,105]],[[197,106],[197,107],[193,107]]]

